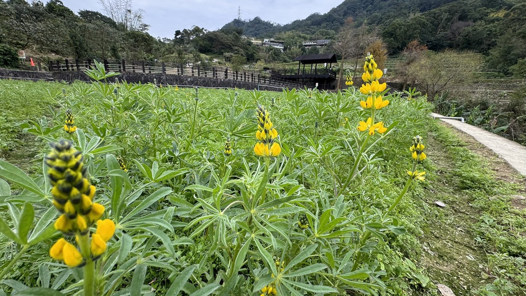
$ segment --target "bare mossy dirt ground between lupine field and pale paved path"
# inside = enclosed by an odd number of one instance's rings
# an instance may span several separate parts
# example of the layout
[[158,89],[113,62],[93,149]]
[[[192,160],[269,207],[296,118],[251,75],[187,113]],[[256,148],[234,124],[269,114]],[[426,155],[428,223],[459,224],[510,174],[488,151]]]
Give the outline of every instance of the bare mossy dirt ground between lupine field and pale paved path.
[[[442,123],[451,128],[450,125]],[[492,150],[488,149],[476,139],[457,129],[451,129],[455,135],[466,142],[469,150],[485,158],[489,168],[494,173],[495,179],[510,183],[524,183],[506,161],[499,158]],[[437,178],[430,180],[432,194],[427,197],[430,207],[430,221],[437,221],[424,229],[424,242],[426,250],[422,262],[431,274],[434,283],[448,285],[453,292],[459,295],[472,295],[485,284],[481,278],[482,268],[487,264],[487,254],[477,247],[471,228],[476,223],[481,213],[471,205],[472,198],[457,187],[458,180],[454,179],[453,171],[456,169],[454,160],[446,153],[446,145],[437,138],[429,135],[427,140],[427,154],[434,166],[439,168]],[[433,202],[439,200],[446,203],[446,207],[434,207]],[[523,202],[523,201],[521,201]],[[518,208],[521,205],[514,205]]]

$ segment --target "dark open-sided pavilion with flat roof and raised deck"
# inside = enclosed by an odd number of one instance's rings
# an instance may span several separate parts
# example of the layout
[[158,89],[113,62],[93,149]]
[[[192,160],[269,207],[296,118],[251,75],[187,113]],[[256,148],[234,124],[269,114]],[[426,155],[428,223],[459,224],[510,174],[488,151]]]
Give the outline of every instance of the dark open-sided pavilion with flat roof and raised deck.
[[332,63],[338,62],[336,54],[301,55],[294,60],[298,61],[297,69],[274,70],[270,76],[317,85],[318,89],[336,88],[336,72],[331,69]]

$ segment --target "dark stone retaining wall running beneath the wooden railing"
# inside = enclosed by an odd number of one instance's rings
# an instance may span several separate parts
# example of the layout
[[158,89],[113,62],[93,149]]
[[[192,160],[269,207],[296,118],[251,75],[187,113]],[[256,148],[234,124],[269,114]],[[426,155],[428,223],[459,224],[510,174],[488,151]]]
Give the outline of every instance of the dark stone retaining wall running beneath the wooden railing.
[[[66,80],[66,81],[90,81],[89,78],[82,71],[63,71],[53,72],[55,80]],[[157,80],[157,84],[162,85],[177,85],[181,87],[185,86],[198,86],[198,87],[229,87],[229,88],[242,88],[242,89],[259,89],[259,90],[272,90],[281,91],[282,87],[279,85],[264,85],[254,83],[251,81],[240,81],[231,79],[211,78],[211,77],[197,77],[197,76],[181,76],[173,74],[160,74],[160,73],[141,73],[141,72],[123,72],[119,76],[108,78],[108,82],[113,82],[115,77],[119,80],[126,80],[128,83],[153,83],[154,79]],[[248,79],[248,77],[247,77]]]

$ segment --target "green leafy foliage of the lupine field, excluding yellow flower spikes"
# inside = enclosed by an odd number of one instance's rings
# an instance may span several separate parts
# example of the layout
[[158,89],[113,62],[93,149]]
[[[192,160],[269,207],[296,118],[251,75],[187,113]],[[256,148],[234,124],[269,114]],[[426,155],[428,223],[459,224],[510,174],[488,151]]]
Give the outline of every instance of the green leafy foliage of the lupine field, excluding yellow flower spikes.
[[[90,75],[103,81],[109,73],[98,66]],[[39,85],[1,83],[22,91]],[[280,295],[378,294],[386,291],[385,280],[397,275],[427,290],[428,280],[414,263],[386,269],[378,258],[406,231],[403,221],[386,209],[407,180],[407,146],[413,135],[426,133],[430,105],[421,98],[385,98],[391,103],[376,116],[389,131],[375,136],[362,156],[353,147],[367,134],[356,130],[364,111],[356,109],[361,95],[352,87],[337,94],[280,94],[74,83],[65,95],[58,91],[52,96],[52,104],[63,107],[54,108],[48,120],[28,120],[22,127],[44,142],[67,137],[84,151],[97,187],[95,199],[105,205],[106,218],[117,223],[116,237],[97,261],[107,280],[104,295],[140,295],[152,289],[170,295],[260,294],[270,283]],[[269,106],[282,146],[282,156],[268,167],[252,152],[252,114],[258,104]],[[66,108],[73,110],[76,134],[56,128],[63,125]],[[343,118],[348,120],[342,126]],[[228,157],[223,153],[227,135],[232,142]],[[42,159],[46,148],[33,149]],[[127,160],[127,172],[115,154]],[[341,188],[337,180],[349,175],[356,159],[361,160],[359,175]],[[30,217],[25,205],[32,205],[35,221],[53,220],[42,218],[50,208],[42,170],[29,177],[7,162],[0,168],[2,179],[25,189],[9,195],[7,183],[0,183],[2,205],[26,209],[0,218]],[[346,192],[335,194],[335,189]],[[300,214],[309,224],[305,230],[297,226]],[[66,295],[80,291],[78,270],[48,258],[52,236],[17,261],[11,256],[13,242],[4,242],[24,241],[8,230],[33,228],[27,228],[31,223],[6,224],[2,231],[9,236],[1,238],[0,250],[15,263],[0,288],[13,294],[49,294],[48,288]],[[360,238],[362,233],[372,234]]]

